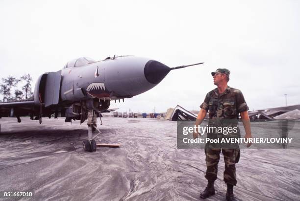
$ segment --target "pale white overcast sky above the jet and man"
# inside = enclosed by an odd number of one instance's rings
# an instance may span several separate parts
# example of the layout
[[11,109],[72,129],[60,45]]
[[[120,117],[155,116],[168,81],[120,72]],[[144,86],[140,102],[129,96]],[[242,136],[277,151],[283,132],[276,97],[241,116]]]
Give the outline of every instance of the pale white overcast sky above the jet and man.
[[122,112],[199,110],[215,88],[211,71],[231,71],[250,108],[300,104],[299,0],[0,0],[0,77],[58,71],[77,57],[149,57],[171,71]]

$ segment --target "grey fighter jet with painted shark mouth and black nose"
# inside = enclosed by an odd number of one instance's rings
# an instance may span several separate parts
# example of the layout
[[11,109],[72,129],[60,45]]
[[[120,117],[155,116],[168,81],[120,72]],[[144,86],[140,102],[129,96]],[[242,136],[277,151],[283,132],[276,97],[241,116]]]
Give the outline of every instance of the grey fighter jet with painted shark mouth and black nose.
[[[110,112],[110,101],[131,98],[160,83],[174,69],[144,57],[114,56],[102,61],[80,57],[68,62],[57,72],[42,74],[35,85],[33,100],[0,103],[0,117],[29,115],[31,120],[42,117],[66,117],[65,122],[88,120],[88,137],[82,147],[96,151],[92,132],[97,129],[100,112]],[[98,130],[98,129],[97,129]]]

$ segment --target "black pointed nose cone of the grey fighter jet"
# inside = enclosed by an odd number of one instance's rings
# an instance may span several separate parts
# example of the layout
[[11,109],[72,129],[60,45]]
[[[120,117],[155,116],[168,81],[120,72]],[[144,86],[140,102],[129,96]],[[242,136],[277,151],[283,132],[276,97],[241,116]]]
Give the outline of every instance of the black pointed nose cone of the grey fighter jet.
[[158,61],[150,60],[145,65],[144,74],[148,82],[151,84],[158,84],[166,77],[170,70],[170,67],[167,67]]

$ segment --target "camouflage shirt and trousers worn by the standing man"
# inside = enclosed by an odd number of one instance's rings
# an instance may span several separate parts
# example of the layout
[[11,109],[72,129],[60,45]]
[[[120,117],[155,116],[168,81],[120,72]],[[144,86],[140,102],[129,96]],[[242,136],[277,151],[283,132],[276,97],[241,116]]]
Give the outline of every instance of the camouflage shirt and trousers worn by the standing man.
[[[239,89],[233,89],[230,87],[227,87],[227,89],[225,89],[224,93],[222,94],[219,94],[218,88],[208,92],[200,108],[209,112],[210,126],[212,126],[212,124],[214,124],[216,120],[220,120],[222,122],[224,120],[226,121],[227,119],[231,120],[229,123],[227,123],[226,126],[228,126],[228,124],[231,124],[231,126],[237,126],[239,112],[249,110],[242,92]],[[212,135],[213,134],[207,134],[209,138],[213,137]],[[239,130],[236,136],[240,136]],[[232,136],[229,135],[228,137]],[[237,181],[235,174],[235,163],[238,162],[240,156],[238,145],[236,149],[213,149],[207,148],[209,147],[209,144],[206,145],[208,146],[206,146],[205,149],[205,161],[207,165],[205,178],[211,181],[217,179],[218,163],[222,150],[225,161],[224,181],[228,184],[236,185]]]

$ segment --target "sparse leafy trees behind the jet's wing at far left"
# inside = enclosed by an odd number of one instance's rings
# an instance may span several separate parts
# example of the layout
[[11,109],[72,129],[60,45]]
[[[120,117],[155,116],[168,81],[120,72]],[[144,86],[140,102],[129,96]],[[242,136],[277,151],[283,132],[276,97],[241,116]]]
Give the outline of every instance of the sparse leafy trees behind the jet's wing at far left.
[[[3,97],[0,102],[20,101],[33,98],[31,88],[32,77],[30,74],[25,74],[20,78],[8,76],[1,80],[0,94],[2,94]],[[21,90],[19,88],[20,85]]]

